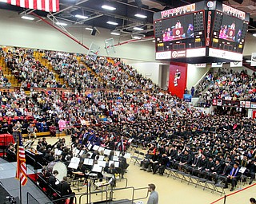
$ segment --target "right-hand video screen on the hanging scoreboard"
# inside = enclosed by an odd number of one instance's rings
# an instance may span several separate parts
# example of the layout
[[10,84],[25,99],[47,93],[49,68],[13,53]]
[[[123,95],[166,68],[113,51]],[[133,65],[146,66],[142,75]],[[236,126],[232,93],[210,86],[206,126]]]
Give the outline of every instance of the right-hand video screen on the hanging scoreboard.
[[242,20],[224,14],[218,38],[227,41],[240,42],[242,40],[242,27]]

